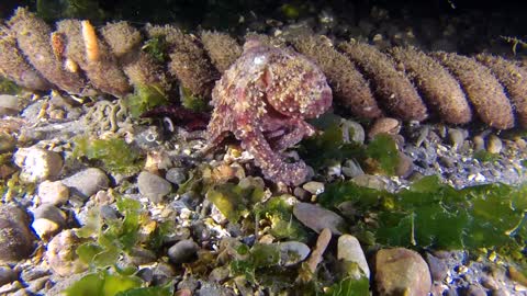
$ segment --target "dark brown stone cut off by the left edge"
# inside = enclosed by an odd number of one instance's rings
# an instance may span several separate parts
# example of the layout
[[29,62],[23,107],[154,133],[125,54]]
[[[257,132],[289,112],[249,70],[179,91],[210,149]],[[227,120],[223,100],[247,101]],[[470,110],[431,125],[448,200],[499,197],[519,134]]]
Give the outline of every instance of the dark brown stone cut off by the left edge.
[[27,215],[11,205],[0,205],[0,264],[29,258],[35,246]]

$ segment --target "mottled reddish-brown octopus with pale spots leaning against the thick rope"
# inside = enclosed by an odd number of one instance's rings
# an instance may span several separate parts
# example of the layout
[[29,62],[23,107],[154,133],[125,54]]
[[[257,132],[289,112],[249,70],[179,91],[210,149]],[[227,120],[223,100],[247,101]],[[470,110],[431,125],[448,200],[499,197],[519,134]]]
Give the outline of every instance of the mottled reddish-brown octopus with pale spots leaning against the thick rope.
[[210,146],[217,147],[232,133],[266,179],[288,185],[305,181],[306,164],[288,162],[283,152],[314,135],[305,119],[332,105],[332,89],[313,61],[249,39],[216,81],[211,103],[214,111],[205,132]]

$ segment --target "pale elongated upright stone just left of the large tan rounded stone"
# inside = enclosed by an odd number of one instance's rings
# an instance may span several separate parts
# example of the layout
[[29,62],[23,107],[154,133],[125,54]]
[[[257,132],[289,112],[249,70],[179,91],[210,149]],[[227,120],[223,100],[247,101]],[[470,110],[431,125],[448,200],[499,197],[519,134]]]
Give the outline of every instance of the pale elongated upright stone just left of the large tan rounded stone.
[[[356,237],[350,235],[341,235],[338,238],[337,243],[337,259],[348,262],[355,262],[362,270],[363,274],[370,278],[370,267],[368,266],[368,261],[366,261],[365,252],[360,247],[359,240]],[[350,274],[352,275],[352,273]],[[355,278],[360,278],[352,275]]]

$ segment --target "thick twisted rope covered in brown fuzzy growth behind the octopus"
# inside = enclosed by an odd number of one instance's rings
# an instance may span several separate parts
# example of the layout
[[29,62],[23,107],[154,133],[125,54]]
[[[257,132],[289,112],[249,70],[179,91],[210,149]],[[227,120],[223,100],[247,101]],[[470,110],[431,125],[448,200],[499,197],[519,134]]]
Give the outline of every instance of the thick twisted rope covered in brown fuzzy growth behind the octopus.
[[[0,24],[0,75],[33,90],[55,87],[80,95],[99,91],[115,96],[127,94],[131,87],[168,92],[177,79],[192,94],[209,98],[214,81],[243,52],[227,34],[194,36],[168,25],[138,30],[117,22],[94,30],[88,21],[64,20],[56,29],[52,32],[43,20],[19,8]],[[143,50],[152,39],[168,45],[164,62]],[[421,122],[435,116],[450,124],[479,117],[497,129],[527,126],[527,70],[512,60],[487,54],[427,54],[412,47],[381,52],[355,42],[334,45],[318,35],[278,44],[313,59],[336,102],[359,117]]]

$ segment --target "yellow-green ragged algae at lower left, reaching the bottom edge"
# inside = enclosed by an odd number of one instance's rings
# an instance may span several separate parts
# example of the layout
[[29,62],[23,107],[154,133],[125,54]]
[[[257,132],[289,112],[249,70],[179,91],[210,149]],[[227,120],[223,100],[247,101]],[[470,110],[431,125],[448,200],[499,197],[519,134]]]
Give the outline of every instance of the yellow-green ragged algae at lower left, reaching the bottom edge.
[[87,223],[77,235],[87,242],[76,252],[79,259],[90,266],[91,273],[74,283],[65,291],[66,295],[109,295],[109,296],[153,296],[172,295],[172,285],[146,287],[133,265],[117,262],[128,255],[134,248],[150,246],[150,240],[161,240],[166,226],[146,238],[139,237],[139,229],[152,225],[152,219],[138,201],[116,197],[116,207],[122,217],[104,218],[98,208],[89,213]]

